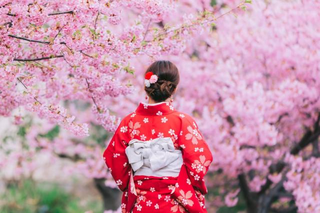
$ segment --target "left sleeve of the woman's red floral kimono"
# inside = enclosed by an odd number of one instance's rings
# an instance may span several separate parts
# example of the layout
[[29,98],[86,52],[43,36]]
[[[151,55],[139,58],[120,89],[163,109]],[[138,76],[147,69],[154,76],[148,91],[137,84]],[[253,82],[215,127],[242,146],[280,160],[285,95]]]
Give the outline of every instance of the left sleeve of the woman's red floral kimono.
[[122,192],[128,187],[131,171],[131,166],[125,154],[128,141],[127,125],[122,120],[115,130],[109,145],[103,152],[104,162]]

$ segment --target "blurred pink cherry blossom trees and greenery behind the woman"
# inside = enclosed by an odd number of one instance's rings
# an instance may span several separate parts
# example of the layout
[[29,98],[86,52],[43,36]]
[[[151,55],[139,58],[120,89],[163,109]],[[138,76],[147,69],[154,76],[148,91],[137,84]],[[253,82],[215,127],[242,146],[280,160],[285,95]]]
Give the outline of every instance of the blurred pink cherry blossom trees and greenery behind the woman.
[[208,213],[319,213],[319,20],[318,0],[1,0],[0,213],[121,212],[102,152],[157,59],[213,154]]

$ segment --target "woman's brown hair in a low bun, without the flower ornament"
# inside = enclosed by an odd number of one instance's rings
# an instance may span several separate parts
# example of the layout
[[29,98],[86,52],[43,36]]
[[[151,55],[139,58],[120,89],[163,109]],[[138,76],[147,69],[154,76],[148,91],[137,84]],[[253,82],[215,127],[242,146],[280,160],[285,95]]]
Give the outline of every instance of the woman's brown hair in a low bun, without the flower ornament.
[[144,86],[144,91],[148,96],[158,102],[170,97],[180,79],[176,66],[170,61],[154,61],[145,71],[145,73],[147,72],[158,76],[155,83],[151,83],[149,87]]

